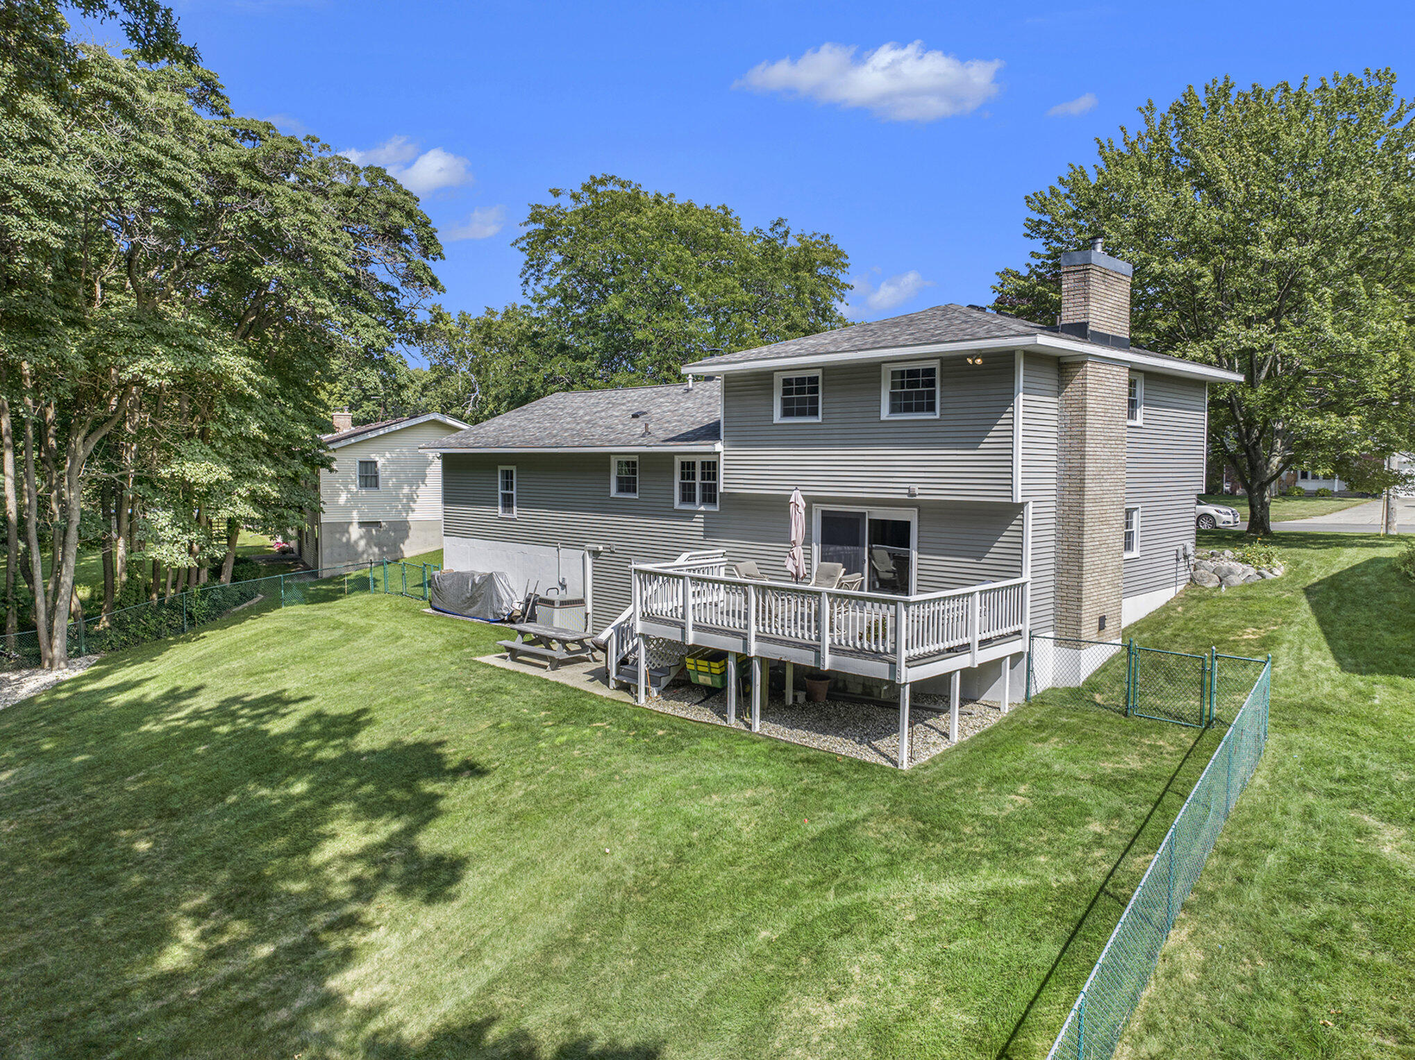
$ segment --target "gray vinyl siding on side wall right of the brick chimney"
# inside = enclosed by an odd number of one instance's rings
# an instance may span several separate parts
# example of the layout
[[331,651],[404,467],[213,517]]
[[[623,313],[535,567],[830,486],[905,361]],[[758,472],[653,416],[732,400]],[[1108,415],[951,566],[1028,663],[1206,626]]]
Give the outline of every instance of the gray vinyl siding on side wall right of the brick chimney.
[[1203,382],[1145,375],[1143,425],[1126,427],[1125,439],[1125,504],[1140,505],[1139,555],[1124,560],[1125,596],[1183,584],[1176,549],[1194,543],[1206,413]]

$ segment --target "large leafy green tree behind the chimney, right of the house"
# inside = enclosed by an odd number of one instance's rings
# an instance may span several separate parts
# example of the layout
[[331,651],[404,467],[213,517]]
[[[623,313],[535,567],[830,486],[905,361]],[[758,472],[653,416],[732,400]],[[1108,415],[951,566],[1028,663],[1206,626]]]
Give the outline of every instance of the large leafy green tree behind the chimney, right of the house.
[[1382,69],[1224,78],[1139,115],[1027,197],[1040,248],[999,273],[995,307],[1054,321],[1060,255],[1104,234],[1135,265],[1135,344],[1244,374],[1211,389],[1210,444],[1249,495],[1249,534],[1268,534],[1268,487],[1293,461],[1415,439],[1411,103]]

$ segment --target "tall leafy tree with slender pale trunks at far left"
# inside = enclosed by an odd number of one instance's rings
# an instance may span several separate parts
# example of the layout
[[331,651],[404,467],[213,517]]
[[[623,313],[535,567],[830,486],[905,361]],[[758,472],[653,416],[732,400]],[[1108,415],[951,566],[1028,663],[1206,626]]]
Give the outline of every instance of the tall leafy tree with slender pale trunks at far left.
[[[140,518],[132,536],[180,587],[212,553],[229,572],[241,521],[301,521],[325,460],[324,382],[416,338],[440,246],[386,173],[236,117],[204,71],[93,50],[64,93],[24,92],[3,58],[0,83],[24,99],[0,112],[17,250],[0,434],[41,657],[58,667],[85,526],[116,552],[120,515]],[[102,518],[86,518],[95,498]]]

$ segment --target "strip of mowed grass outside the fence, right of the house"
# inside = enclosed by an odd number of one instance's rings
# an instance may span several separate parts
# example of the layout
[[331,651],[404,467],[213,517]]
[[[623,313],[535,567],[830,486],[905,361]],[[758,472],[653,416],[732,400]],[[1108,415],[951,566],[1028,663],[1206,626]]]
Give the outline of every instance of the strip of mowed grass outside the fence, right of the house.
[[1266,754],[1124,1057],[1415,1056],[1415,584],[1388,538],[1275,541],[1285,577],[1189,592],[1126,631],[1217,635],[1272,652],[1274,676]]

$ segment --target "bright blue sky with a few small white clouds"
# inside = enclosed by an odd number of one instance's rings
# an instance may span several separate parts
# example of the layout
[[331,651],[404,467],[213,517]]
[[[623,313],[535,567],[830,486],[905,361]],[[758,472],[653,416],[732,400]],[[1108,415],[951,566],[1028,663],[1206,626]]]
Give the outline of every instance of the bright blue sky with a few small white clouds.
[[474,313],[521,297],[526,204],[593,173],[831,234],[856,318],[986,303],[1026,259],[1023,197],[1146,99],[1415,76],[1409,4],[175,7],[239,112],[405,173],[443,234],[444,304]]

